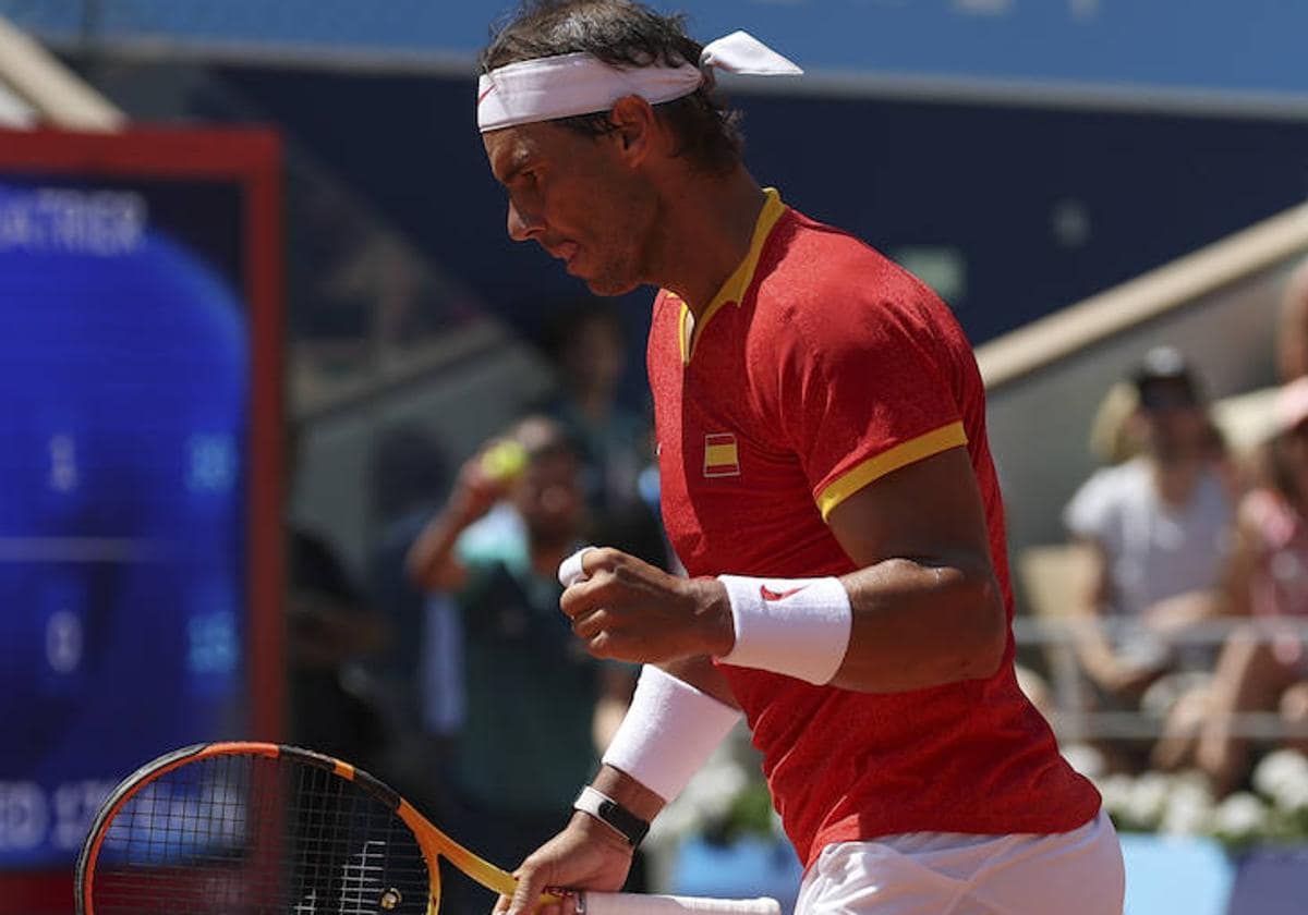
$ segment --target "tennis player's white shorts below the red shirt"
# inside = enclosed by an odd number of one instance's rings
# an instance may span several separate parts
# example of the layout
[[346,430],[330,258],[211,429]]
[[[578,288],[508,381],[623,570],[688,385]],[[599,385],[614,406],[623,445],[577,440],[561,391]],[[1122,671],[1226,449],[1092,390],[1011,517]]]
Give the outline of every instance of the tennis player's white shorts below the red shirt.
[[1103,810],[1054,835],[908,833],[823,848],[795,915],[1121,915],[1122,850]]

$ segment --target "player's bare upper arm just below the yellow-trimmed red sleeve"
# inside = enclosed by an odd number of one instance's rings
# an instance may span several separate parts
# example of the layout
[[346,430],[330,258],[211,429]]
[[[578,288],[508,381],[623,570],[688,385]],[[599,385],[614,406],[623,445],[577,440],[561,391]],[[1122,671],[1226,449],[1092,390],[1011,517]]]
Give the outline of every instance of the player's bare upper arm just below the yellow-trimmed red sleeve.
[[872,480],[827,516],[850,559],[993,571],[985,507],[965,447],[952,447]]

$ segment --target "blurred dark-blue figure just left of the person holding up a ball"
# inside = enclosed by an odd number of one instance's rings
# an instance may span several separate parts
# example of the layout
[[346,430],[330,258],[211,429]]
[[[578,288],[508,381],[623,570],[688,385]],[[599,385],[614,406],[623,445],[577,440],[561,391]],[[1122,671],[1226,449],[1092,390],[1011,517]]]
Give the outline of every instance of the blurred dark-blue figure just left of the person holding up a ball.
[[450,597],[422,591],[405,557],[445,503],[450,468],[430,434],[398,425],[379,435],[369,478],[378,528],[369,593],[392,634],[374,663],[394,735],[383,771],[439,818],[450,741],[463,722],[463,631]]

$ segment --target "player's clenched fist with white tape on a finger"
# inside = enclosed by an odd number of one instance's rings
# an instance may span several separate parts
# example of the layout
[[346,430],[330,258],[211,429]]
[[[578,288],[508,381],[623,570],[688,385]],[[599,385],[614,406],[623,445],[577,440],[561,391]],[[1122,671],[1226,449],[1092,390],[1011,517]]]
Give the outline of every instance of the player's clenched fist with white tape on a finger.
[[658,664],[721,656],[735,644],[731,605],[717,579],[678,578],[607,548],[587,549],[582,573],[560,607],[596,657]]

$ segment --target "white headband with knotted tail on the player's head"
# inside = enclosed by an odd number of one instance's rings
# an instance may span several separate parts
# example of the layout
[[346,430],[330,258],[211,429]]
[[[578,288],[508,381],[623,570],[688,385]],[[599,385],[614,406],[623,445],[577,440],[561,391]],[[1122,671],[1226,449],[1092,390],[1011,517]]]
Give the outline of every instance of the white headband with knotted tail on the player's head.
[[485,133],[608,111],[627,95],[640,95],[650,105],[671,102],[698,89],[709,67],[752,76],[803,73],[744,31],[705,44],[698,67],[619,68],[586,52],[523,60],[484,73],[477,81],[477,128]]

